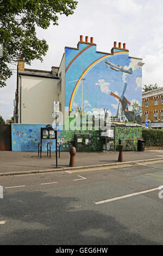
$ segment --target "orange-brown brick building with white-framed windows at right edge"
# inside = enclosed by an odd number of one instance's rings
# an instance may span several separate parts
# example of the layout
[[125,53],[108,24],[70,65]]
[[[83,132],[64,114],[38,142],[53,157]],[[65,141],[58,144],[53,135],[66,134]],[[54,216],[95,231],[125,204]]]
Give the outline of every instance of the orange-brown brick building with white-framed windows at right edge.
[[163,88],[142,93],[142,126],[151,123],[152,129],[163,129]]

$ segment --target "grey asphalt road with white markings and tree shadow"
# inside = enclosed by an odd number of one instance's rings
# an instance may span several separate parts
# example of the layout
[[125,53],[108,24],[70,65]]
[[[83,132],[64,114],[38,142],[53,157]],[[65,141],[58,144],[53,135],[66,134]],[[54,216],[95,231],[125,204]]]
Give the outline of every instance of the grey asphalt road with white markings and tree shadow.
[[162,245],[162,163],[0,177],[0,245]]

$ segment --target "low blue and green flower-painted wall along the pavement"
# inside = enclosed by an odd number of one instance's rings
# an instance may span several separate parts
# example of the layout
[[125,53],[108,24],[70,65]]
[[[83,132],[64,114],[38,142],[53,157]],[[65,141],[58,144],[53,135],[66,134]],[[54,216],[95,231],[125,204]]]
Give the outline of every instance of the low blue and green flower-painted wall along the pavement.
[[[12,151],[37,151],[40,142],[40,128],[46,125],[41,124],[11,124],[12,131]],[[69,151],[74,141],[74,133],[87,133],[90,137],[90,151],[101,151],[102,143],[99,131],[65,131],[58,126],[58,142],[61,151]],[[137,139],[141,138],[141,127],[116,127],[116,146],[118,139],[133,139],[136,150]],[[51,150],[55,150],[55,140],[42,140],[42,150],[47,151],[47,143],[51,143]],[[110,149],[114,149],[114,144],[110,142]]]

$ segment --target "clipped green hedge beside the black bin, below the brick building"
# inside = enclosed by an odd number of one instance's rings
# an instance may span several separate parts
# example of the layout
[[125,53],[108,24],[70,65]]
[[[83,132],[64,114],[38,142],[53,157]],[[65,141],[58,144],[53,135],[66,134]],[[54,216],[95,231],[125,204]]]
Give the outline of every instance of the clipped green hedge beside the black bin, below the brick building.
[[142,138],[146,146],[163,146],[163,130],[143,129]]

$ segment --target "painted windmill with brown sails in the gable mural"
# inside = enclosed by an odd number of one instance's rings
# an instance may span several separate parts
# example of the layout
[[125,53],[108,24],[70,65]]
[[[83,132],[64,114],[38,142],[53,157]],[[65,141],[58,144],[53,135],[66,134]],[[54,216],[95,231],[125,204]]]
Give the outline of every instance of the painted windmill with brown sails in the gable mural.
[[124,94],[126,93],[127,83],[124,83],[124,88],[121,97],[118,97],[114,93],[110,93],[111,96],[116,97],[116,99],[119,100],[118,109],[117,109],[117,118],[120,119],[122,115],[125,115],[125,113],[128,111],[128,105],[131,105],[131,103],[126,99]]

